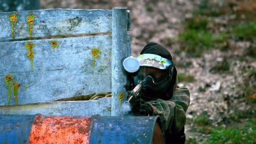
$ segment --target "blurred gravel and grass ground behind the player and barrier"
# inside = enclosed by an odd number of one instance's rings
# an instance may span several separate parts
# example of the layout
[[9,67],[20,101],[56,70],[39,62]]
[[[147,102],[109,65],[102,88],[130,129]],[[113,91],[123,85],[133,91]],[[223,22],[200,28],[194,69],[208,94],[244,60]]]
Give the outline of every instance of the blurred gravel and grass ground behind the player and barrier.
[[[16,0],[12,7],[23,8],[19,2],[23,1]],[[186,143],[256,143],[255,0],[41,0],[27,4],[27,9],[127,7],[132,19],[132,56],[150,41],[164,45],[174,58],[179,86],[190,89]],[[4,5],[0,9],[15,11]]]

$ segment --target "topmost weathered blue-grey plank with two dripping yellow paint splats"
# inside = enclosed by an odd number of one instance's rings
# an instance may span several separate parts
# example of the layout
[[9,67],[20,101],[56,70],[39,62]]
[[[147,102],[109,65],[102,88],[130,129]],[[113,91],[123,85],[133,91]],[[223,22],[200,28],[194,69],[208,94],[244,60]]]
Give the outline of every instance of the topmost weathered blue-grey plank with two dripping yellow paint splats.
[[[8,17],[15,14],[16,17]],[[29,33],[28,15],[36,16],[33,19],[32,36]],[[18,17],[20,16],[20,17]],[[12,18],[16,18],[13,25]],[[128,17],[131,21],[130,17]],[[29,19],[31,20],[31,19]],[[129,23],[128,30],[131,29]],[[30,37],[48,37],[55,35],[110,33],[112,32],[112,10],[84,10],[84,9],[47,9],[28,10],[0,13],[0,40],[22,39]]]

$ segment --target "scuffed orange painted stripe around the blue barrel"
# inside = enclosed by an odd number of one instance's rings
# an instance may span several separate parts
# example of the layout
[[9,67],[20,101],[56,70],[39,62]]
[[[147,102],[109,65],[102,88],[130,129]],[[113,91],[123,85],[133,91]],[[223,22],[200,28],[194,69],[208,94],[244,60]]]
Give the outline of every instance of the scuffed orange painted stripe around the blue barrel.
[[89,143],[90,116],[43,116],[34,118],[29,143]]

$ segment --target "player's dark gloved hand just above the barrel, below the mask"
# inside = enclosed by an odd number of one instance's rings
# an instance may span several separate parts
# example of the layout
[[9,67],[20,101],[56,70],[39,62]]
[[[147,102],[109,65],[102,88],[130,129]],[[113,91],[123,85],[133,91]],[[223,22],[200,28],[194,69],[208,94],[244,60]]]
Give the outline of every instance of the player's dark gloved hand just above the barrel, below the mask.
[[135,116],[152,116],[153,109],[149,106],[148,103],[146,103],[143,99],[137,99],[132,101],[132,113]]

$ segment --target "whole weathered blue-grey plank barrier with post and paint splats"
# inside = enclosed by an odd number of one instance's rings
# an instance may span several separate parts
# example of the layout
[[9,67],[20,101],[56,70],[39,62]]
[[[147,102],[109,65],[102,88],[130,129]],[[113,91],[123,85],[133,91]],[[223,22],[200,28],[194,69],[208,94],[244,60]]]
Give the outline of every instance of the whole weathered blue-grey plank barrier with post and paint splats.
[[[102,109],[101,115],[118,115],[126,98],[121,59],[131,55],[126,8],[0,13],[0,29],[0,114],[90,116]],[[113,92],[112,106],[100,100],[53,101],[95,92]],[[90,109],[83,114],[71,106],[78,103]]]

